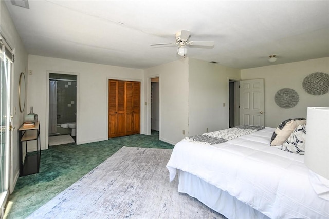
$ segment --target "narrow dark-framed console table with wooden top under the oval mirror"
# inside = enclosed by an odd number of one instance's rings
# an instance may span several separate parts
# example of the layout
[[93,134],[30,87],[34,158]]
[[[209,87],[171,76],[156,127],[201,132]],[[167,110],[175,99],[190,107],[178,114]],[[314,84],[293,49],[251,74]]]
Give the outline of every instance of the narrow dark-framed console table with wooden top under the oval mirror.
[[[36,152],[27,154],[27,142],[36,140]],[[23,142],[25,142],[26,156],[23,161]],[[33,127],[24,127],[19,129],[20,145],[20,176],[39,173],[41,146],[40,146],[40,121],[35,122]]]

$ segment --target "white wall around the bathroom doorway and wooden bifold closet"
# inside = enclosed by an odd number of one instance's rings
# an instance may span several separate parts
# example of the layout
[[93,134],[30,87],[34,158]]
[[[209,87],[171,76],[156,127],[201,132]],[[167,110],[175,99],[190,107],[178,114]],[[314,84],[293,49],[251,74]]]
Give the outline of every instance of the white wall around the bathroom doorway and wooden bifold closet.
[[[41,122],[41,148],[48,148],[47,95],[49,72],[77,74],[77,143],[108,139],[108,79],[140,81],[143,70],[70,61],[59,58],[29,55],[28,109],[33,106]],[[141,90],[143,93],[143,90]],[[141,95],[141,103],[143,103]],[[141,111],[143,112],[143,108]]]

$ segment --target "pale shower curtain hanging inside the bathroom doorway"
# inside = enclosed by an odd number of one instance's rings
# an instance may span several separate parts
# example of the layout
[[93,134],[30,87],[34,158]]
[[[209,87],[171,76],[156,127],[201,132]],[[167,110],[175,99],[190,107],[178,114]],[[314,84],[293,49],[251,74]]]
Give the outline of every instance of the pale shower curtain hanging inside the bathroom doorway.
[[49,134],[57,132],[57,81],[49,80]]

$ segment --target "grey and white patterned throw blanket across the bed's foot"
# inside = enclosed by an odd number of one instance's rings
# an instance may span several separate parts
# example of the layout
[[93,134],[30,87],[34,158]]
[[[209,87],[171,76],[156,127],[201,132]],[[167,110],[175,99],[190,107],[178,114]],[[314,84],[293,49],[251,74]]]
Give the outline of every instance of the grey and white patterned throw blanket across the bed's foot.
[[264,129],[264,126],[241,125],[229,129],[223,129],[220,131],[198,134],[191,137],[186,137],[184,139],[190,142],[198,142],[202,144],[213,145],[213,144],[227,142],[228,140],[231,140],[233,138],[250,134],[252,132],[256,132],[262,129]]

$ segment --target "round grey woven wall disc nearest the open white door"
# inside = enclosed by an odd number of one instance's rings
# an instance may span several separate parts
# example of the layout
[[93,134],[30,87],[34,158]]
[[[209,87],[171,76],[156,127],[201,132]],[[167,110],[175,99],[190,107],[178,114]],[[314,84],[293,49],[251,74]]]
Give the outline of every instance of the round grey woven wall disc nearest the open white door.
[[283,88],[276,93],[274,101],[279,107],[288,109],[298,104],[299,95],[293,89]]

